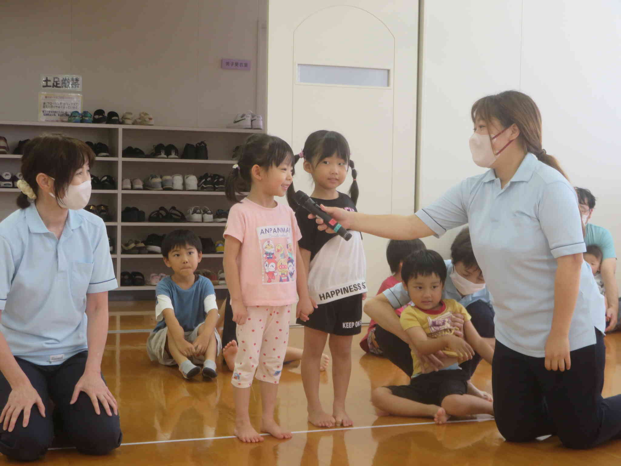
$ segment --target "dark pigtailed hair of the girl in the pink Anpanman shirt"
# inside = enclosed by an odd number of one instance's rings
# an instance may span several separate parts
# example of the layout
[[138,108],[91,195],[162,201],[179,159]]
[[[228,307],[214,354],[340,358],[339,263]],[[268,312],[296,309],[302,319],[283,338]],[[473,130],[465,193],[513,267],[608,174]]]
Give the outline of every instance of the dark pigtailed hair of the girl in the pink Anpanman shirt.
[[232,203],[239,200],[235,193],[250,191],[252,185],[252,167],[258,165],[266,170],[278,167],[283,162],[294,163],[291,146],[276,136],[253,134],[237,149],[239,160],[237,167],[229,173],[226,183],[227,199]]

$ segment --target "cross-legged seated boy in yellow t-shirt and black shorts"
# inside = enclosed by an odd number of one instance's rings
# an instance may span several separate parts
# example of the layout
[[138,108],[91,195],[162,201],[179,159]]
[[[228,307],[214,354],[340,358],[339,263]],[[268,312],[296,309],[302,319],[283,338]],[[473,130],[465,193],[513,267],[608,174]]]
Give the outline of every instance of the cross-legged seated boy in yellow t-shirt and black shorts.
[[[430,416],[437,424],[450,416],[494,414],[492,402],[468,395],[468,371],[459,363],[472,359],[476,351],[490,364],[494,350],[479,336],[468,311],[455,299],[442,299],[446,265],[433,250],[410,254],[401,269],[410,303],[401,313],[401,327],[412,347],[414,370],[409,385],[383,386],[373,391],[373,404],[384,414],[396,416]],[[464,318],[464,338],[454,334],[453,314]],[[442,351],[444,367],[437,372],[422,373],[417,354]]]

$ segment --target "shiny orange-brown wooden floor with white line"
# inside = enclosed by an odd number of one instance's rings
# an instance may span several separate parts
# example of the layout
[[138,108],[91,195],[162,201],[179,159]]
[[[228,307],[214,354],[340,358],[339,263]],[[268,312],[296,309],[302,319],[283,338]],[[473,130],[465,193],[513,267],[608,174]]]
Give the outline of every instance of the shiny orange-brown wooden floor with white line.
[[[130,304],[112,311],[130,310]],[[230,372],[216,381],[184,381],[177,368],[150,362],[145,352],[149,316],[111,317],[102,371],[119,401],[124,439],[106,457],[88,457],[75,450],[51,450],[45,457],[53,465],[560,465],[621,464],[621,441],[594,450],[564,449],[558,439],[529,444],[505,443],[493,420],[481,416],[436,426],[432,419],[376,416],[369,401],[373,388],[407,383],[407,377],[388,360],[364,355],[353,345],[353,369],[348,412],[353,429],[322,431],[306,421],[306,400],[299,363],[286,366],[278,393],[277,419],[294,431],[289,441],[266,437],[255,445],[230,438],[234,407]],[[366,330],[363,328],[363,330]],[[121,332],[118,332],[121,331]],[[291,329],[292,345],[301,346],[302,329]],[[604,395],[621,392],[621,334],[606,337],[607,365]],[[473,381],[491,391],[491,370],[481,362]],[[331,406],[332,375],[323,373],[320,394]],[[251,416],[258,425],[260,395],[253,387]],[[0,464],[6,463],[0,455]]]

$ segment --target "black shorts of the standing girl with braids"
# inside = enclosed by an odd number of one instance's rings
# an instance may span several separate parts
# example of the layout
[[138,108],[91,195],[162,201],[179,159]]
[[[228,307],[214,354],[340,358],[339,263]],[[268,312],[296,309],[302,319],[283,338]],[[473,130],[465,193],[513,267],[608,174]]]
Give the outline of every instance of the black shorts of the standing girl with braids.
[[362,331],[362,294],[319,304],[308,321],[296,322],[333,335],[358,335]]

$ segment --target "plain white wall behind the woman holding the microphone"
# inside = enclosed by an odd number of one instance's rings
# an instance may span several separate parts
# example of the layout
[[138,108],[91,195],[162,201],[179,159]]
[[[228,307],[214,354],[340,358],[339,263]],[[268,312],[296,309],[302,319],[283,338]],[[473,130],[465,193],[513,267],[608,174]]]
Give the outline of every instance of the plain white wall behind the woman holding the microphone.
[[[433,0],[423,15],[418,206],[483,171],[468,148],[470,107],[518,89],[542,112],[543,147],[598,198],[592,222],[620,254],[621,3]],[[456,233],[425,242],[448,257]]]

